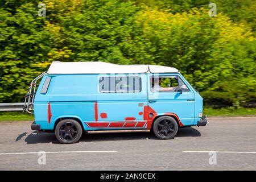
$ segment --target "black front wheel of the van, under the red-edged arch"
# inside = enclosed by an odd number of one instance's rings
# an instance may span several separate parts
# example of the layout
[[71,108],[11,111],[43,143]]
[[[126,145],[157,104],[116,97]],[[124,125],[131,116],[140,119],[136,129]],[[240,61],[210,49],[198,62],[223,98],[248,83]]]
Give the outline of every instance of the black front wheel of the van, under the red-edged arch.
[[154,134],[159,139],[173,139],[177,134],[177,130],[177,122],[170,116],[157,118],[153,125]]

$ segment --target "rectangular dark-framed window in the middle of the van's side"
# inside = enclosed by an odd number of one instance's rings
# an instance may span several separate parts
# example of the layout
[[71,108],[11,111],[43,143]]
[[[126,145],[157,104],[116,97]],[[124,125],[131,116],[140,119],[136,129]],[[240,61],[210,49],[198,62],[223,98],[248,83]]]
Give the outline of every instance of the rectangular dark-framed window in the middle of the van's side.
[[100,92],[141,92],[141,77],[100,77]]

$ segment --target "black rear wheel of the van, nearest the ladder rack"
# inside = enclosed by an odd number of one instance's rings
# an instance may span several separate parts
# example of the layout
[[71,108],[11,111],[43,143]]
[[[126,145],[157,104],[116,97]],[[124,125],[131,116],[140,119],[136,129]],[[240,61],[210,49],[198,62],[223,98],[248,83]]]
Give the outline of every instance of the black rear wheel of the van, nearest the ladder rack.
[[82,127],[76,120],[64,119],[57,123],[55,136],[60,143],[76,143],[82,136]]

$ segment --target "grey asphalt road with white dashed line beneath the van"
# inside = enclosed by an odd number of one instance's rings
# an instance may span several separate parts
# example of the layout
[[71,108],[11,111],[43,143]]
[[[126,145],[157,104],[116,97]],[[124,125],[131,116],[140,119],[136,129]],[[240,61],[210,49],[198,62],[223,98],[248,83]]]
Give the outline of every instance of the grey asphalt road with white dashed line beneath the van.
[[[180,129],[172,140],[101,133],[75,144],[32,135],[30,123],[0,122],[0,170],[256,170],[256,117],[209,118],[207,126]],[[38,163],[39,151],[47,152],[46,164]]]

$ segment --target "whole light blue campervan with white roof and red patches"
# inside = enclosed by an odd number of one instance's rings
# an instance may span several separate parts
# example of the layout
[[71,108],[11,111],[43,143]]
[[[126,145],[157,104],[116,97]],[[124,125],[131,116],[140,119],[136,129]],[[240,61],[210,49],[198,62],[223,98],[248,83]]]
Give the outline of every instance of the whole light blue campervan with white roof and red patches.
[[54,132],[60,143],[92,130],[151,130],[172,139],[180,127],[207,124],[200,94],[177,69],[160,65],[54,61],[25,98],[31,129]]

